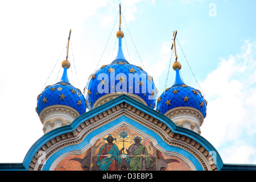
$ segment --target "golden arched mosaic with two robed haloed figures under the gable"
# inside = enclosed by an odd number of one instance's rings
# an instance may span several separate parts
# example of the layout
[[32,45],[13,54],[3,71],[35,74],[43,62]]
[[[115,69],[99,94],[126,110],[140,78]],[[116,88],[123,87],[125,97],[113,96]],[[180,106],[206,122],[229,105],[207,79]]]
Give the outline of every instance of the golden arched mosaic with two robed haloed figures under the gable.
[[184,160],[164,155],[146,137],[123,126],[97,139],[83,154],[62,159],[55,171],[190,171]]

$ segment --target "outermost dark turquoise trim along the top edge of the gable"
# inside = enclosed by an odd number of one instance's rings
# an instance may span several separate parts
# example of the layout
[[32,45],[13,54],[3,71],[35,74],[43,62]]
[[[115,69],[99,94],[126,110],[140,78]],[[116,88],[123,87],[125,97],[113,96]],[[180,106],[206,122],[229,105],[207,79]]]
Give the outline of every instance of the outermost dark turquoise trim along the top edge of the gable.
[[201,143],[204,148],[206,148],[208,151],[214,151],[216,152],[216,166],[217,169],[220,170],[223,166],[223,162],[221,159],[220,154],[218,154],[218,151],[206,140],[205,138],[201,137],[201,135],[195,133],[194,131],[185,129],[184,127],[176,126],[174,122],[171,121],[170,118],[166,117],[166,115],[163,115],[159,113],[158,111],[151,109],[150,107],[142,104],[141,102],[138,102],[134,100],[133,98],[127,96],[126,94],[123,94],[117,98],[114,98],[113,100],[106,102],[105,104],[96,107],[95,109],[92,109],[82,115],[80,117],[76,118],[71,125],[59,127],[55,130],[52,130],[48,132],[47,134],[43,135],[43,137],[39,138],[28,150],[24,160],[23,165],[26,169],[28,169],[29,164],[32,160],[32,157],[35,155],[35,152],[39,150],[39,148],[46,143],[48,140],[56,137],[57,135],[61,135],[64,133],[71,132],[76,129],[77,126],[80,125],[81,122],[84,122],[86,119],[92,118],[97,114],[102,113],[102,111],[108,110],[111,107],[121,104],[122,102],[126,102],[127,104],[130,104],[131,106],[139,108],[141,111],[152,115],[152,117],[155,117],[156,119],[159,119],[160,121],[164,122],[174,133],[187,135],[188,137],[196,140],[197,142]]

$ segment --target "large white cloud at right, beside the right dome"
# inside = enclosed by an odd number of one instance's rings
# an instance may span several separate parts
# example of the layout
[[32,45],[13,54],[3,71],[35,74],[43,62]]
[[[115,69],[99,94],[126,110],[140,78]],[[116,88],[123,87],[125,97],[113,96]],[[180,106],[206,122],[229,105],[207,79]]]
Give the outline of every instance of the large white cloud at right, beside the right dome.
[[[233,162],[256,161],[256,144],[251,142],[256,137],[256,42],[245,41],[241,50],[238,55],[222,58],[219,67],[201,83],[208,101],[202,135],[224,156],[224,163],[242,152],[244,156]],[[243,144],[237,145],[238,141]]]

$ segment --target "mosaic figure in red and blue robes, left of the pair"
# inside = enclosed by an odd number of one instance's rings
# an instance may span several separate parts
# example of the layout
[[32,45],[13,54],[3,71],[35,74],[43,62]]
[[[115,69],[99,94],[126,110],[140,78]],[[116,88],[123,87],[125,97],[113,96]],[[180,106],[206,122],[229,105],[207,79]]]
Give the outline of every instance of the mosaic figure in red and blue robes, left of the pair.
[[113,137],[107,138],[108,143],[101,146],[98,152],[97,166],[101,171],[118,171],[117,158],[124,148],[119,151],[116,144],[113,143]]

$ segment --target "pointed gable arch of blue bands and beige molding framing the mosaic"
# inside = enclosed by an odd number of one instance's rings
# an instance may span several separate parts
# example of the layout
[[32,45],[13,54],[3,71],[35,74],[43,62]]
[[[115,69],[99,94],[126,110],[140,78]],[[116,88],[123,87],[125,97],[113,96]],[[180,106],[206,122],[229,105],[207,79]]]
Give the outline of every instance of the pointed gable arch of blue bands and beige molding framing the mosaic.
[[[49,169],[49,166],[47,167],[42,163],[40,152],[44,152],[44,159],[48,163],[53,163],[53,159],[57,159],[64,152],[67,152],[65,151],[67,148],[81,150],[89,144],[90,139],[92,139],[90,135],[93,136],[96,131],[102,133],[106,129],[113,129],[118,126],[118,122],[123,121],[138,125],[138,129],[144,133],[151,132],[151,136],[160,137],[158,144],[160,147],[166,145],[162,147],[164,150],[169,146],[176,147],[179,152],[188,152],[199,161],[203,170],[217,170],[223,165],[215,148],[203,137],[193,131],[176,126],[163,114],[125,95],[81,115],[71,125],[49,132],[31,147],[24,162],[29,170]],[[80,146],[79,144],[82,142],[87,143]],[[64,150],[64,148],[66,149]],[[212,163],[210,162],[212,159],[210,151],[216,153],[216,158]]]

